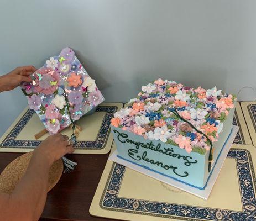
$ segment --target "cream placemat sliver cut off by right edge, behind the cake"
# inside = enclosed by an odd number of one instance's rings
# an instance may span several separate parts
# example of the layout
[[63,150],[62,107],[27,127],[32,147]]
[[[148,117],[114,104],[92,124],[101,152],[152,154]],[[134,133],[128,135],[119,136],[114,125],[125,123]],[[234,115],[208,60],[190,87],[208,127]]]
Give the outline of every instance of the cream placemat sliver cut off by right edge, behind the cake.
[[249,129],[250,138],[253,145],[256,146],[256,101],[241,102],[245,122]]

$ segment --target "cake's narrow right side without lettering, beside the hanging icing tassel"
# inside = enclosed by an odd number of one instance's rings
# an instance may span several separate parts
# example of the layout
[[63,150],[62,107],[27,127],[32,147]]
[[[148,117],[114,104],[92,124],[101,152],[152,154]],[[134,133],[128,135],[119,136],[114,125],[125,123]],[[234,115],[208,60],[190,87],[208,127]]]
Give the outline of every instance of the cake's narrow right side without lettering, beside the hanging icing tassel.
[[[223,148],[223,145],[227,141],[229,134],[231,133],[232,125],[233,125],[233,117],[234,117],[234,109],[232,108],[231,111],[228,114],[228,117],[226,120],[223,122],[223,131],[220,133],[218,137],[218,141],[213,142],[213,164],[212,167],[216,164],[216,160],[218,158],[218,155],[220,155],[220,152]],[[209,151],[206,152],[206,163],[205,163],[205,180],[204,183],[206,183],[208,176],[210,176],[210,172],[208,172],[208,157],[209,157]]]

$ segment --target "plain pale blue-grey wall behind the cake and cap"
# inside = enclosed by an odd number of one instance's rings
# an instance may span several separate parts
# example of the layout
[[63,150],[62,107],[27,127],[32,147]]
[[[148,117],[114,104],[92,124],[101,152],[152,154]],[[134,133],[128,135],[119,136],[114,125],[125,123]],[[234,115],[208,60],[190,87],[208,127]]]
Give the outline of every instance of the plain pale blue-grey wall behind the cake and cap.
[[[241,0],[1,0],[0,73],[77,52],[107,102],[162,77],[228,93],[255,87],[256,2]],[[254,99],[245,89],[239,99]],[[0,94],[2,134],[26,106]]]

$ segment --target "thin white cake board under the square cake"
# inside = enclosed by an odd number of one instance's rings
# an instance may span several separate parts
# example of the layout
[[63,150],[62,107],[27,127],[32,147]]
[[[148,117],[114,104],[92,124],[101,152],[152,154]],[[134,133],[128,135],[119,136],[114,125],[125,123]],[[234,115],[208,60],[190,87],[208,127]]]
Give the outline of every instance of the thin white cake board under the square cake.
[[121,164],[123,166],[129,167],[130,169],[133,169],[135,171],[143,173],[147,176],[153,177],[156,180],[160,180],[160,181],[162,181],[164,183],[167,183],[171,186],[179,188],[180,190],[183,190],[183,191],[189,192],[191,194],[194,194],[197,197],[200,197],[200,198],[203,198],[203,199],[208,199],[208,197],[210,196],[210,193],[212,191],[212,187],[213,187],[213,185],[215,184],[215,182],[217,180],[217,177],[218,177],[218,175],[221,171],[221,167],[224,163],[224,160],[227,157],[228,151],[231,148],[231,146],[233,144],[233,141],[234,141],[234,138],[236,137],[237,131],[239,129],[238,126],[234,126],[234,125],[232,126],[232,128],[233,128],[232,133],[229,135],[229,138],[228,138],[228,140],[227,140],[227,142],[226,142],[226,144],[225,144],[225,146],[224,146],[224,148],[221,152],[221,155],[220,155],[220,157],[217,161],[217,164],[215,165],[214,170],[212,171],[212,174],[211,174],[211,176],[208,180],[208,184],[207,184],[205,190],[199,190],[195,187],[191,187],[189,185],[186,185],[185,183],[176,181],[172,178],[160,175],[159,173],[150,171],[150,170],[145,169],[143,167],[140,167],[138,165],[132,164],[131,162],[120,159],[119,157],[117,157],[117,154],[118,154],[117,150],[115,150],[113,152],[113,154],[111,154],[108,157],[108,159],[111,160],[111,161],[117,162],[118,164]]

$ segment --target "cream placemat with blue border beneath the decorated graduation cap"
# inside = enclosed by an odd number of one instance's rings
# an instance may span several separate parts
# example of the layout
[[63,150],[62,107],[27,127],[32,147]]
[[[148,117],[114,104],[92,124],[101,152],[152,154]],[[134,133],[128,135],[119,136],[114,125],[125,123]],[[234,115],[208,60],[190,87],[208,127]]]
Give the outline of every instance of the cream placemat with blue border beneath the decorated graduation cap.
[[[85,115],[77,120],[76,124],[82,127],[75,154],[107,154],[113,143],[110,133],[110,120],[114,112],[123,107],[123,103],[102,103],[95,113]],[[49,133],[35,140],[34,135],[44,129],[44,125],[33,110],[25,108],[15,122],[9,127],[0,139],[0,152],[29,152],[44,140]],[[70,136],[71,128],[61,131]]]

